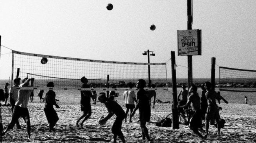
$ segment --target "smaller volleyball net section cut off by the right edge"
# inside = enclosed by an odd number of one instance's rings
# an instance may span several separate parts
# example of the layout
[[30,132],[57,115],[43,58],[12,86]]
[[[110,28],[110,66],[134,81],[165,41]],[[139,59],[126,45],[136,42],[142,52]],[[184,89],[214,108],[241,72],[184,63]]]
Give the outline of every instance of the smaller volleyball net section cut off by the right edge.
[[220,91],[256,92],[256,70],[220,66]]

